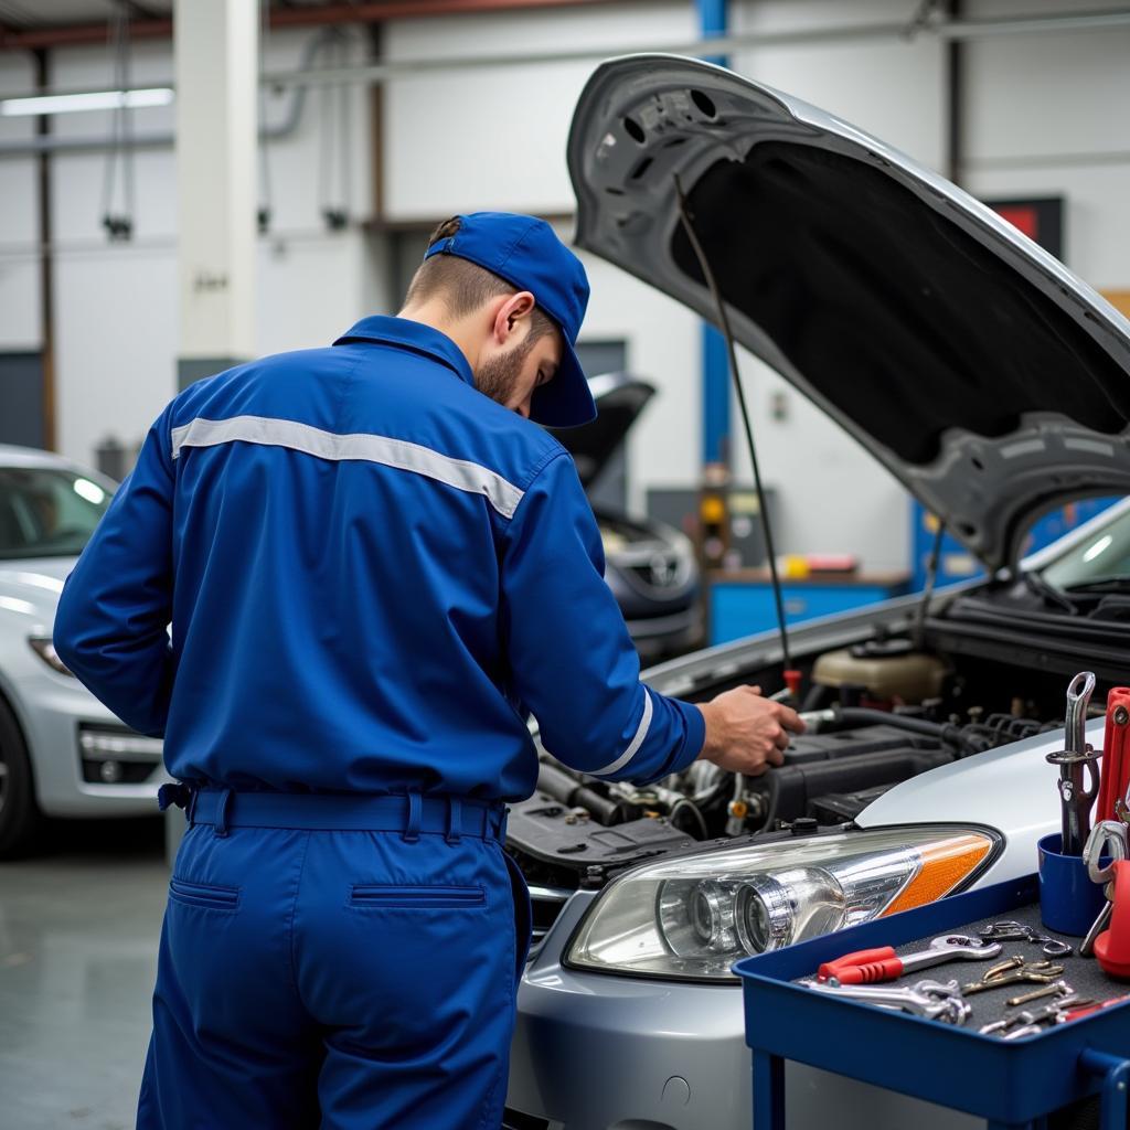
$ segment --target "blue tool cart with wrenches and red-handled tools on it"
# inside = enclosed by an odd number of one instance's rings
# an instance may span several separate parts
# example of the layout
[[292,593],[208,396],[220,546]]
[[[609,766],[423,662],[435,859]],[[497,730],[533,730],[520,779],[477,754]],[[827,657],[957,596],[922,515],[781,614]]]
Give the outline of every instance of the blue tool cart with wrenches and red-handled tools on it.
[[1088,1095],[1102,1130],[1128,1124],[1130,985],[1113,990],[1130,982],[1130,688],[1110,692],[1102,750],[1087,742],[1094,690],[1088,671],[1071,680],[1063,748],[1035,755],[1059,770],[1061,815],[1037,873],[734,966],[755,1130],[784,1130],[790,1059],[994,1130],[1034,1130]]

